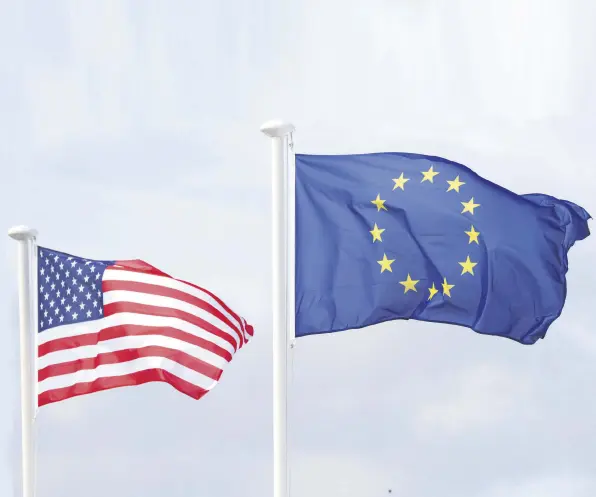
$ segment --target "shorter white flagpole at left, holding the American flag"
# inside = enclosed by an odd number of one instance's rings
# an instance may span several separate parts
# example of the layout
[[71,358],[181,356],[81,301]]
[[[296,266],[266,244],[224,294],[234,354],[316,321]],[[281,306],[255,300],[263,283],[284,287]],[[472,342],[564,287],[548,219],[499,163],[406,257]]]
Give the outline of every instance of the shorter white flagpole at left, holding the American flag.
[[22,497],[34,497],[35,468],[34,468],[34,384],[33,384],[33,336],[32,328],[35,289],[31,288],[33,280],[31,272],[34,254],[35,237],[37,232],[26,226],[15,226],[8,230],[8,236],[19,242],[18,247],[18,282],[19,282],[19,327],[21,332],[21,477]]

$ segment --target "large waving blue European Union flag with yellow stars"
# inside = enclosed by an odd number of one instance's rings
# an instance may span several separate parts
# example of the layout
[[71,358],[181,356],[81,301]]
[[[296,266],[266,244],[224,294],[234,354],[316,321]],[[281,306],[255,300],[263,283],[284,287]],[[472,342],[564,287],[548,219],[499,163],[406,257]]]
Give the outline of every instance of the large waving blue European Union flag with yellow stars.
[[588,219],[439,157],[296,155],[296,336],[418,319],[532,344]]

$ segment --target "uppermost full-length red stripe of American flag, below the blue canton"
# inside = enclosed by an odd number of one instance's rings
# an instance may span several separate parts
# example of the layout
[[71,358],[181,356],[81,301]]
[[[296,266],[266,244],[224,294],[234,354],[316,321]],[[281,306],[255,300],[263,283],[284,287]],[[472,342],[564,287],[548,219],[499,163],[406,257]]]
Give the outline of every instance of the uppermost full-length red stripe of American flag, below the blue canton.
[[137,324],[111,326],[99,331],[98,333],[87,333],[85,335],[50,340],[49,342],[39,345],[37,349],[38,357],[43,357],[50,352],[56,352],[58,350],[74,349],[76,347],[84,347],[86,345],[97,345],[99,342],[112,340],[114,338],[147,335],[160,335],[170,338],[177,338],[178,340],[188,342],[192,345],[196,345],[197,347],[201,347],[205,350],[208,350],[209,352],[217,354],[219,357],[222,357],[228,362],[232,360],[232,354],[230,354],[226,349],[214,344],[213,342],[210,342],[209,340],[192,335],[191,333],[187,333],[176,328],[142,326]]

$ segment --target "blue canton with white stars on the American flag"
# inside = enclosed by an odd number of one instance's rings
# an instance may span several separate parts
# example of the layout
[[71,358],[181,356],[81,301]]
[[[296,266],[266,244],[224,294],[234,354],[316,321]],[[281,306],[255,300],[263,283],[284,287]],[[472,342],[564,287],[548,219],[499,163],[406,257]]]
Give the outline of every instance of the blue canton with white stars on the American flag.
[[38,331],[103,317],[103,273],[113,261],[38,249]]

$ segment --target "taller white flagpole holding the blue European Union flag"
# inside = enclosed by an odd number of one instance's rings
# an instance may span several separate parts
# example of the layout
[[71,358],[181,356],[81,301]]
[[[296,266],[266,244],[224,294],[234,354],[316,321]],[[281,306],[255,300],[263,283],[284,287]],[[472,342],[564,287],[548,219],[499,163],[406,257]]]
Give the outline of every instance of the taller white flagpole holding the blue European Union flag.
[[273,497],[288,497],[288,139],[294,126],[268,121],[261,131],[272,139],[273,253]]

